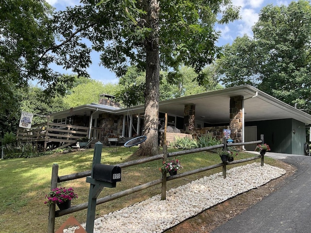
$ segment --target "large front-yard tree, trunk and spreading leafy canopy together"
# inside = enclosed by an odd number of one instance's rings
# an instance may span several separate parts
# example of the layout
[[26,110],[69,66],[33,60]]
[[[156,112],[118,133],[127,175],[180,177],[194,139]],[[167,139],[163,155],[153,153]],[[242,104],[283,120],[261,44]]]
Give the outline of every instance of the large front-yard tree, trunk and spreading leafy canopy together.
[[[87,77],[91,50],[102,52],[101,64],[119,77],[129,65],[137,66],[146,73],[148,137],[139,151],[156,154],[160,67],[173,77],[184,64],[203,82],[202,68],[219,53],[215,42],[220,32],[214,25],[237,19],[239,9],[231,0],[81,0],[81,4],[52,14],[45,0],[2,1],[5,11],[0,19],[7,30],[1,31],[1,40],[7,44],[1,47],[1,76],[14,78],[14,83],[37,79],[53,93],[67,90],[73,80],[60,77],[50,65]],[[16,15],[10,15],[12,11]],[[7,56],[10,49],[14,53]]]

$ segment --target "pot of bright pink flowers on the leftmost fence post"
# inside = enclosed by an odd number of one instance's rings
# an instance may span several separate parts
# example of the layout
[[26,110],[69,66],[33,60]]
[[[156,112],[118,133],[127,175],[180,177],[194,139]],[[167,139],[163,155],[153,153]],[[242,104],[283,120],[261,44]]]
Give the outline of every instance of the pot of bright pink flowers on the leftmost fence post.
[[70,207],[71,200],[78,198],[78,195],[73,192],[71,187],[60,187],[52,189],[45,197],[48,200],[44,201],[44,204],[48,204],[50,206],[51,204],[55,203],[60,210],[65,210]]

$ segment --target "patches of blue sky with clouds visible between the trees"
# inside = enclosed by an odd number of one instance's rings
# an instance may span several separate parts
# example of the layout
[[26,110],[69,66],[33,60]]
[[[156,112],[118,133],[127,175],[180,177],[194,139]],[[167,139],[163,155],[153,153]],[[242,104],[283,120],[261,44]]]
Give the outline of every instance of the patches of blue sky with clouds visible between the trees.
[[[56,10],[64,10],[66,6],[80,5],[80,0],[46,0],[50,5],[56,8]],[[273,5],[288,5],[292,0],[232,0],[232,3],[236,6],[241,6],[240,20],[236,20],[226,25],[216,26],[217,31],[221,31],[221,37],[217,43],[218,46],[225,44],[232,44],[234,39],[238,36],[247,34],[253,36],[252,26],[258,21],[259,12],[262,7]],[[92,64],[87,69],[88,74],[92,79],[101,81],[103,83],[118,83],[119,79],[109,69],[103,66],[99,66],[99,54],[92,52]],[[56,71],[70,74],[69,70],[62,70],[61,67],[52,67]]]

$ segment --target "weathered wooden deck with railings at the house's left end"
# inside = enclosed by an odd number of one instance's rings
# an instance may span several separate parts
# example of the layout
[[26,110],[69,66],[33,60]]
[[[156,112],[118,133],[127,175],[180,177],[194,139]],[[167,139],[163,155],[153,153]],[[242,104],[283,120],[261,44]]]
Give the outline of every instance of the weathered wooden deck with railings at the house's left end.
[[[61,149],[75,145],[77,139],[88,137],[89,127],[65,125],[58,123],[41,123],[31,129],[18,128],[17,141],[34,143],[43,150]],[[101,140],[101,129],[91,128],[91,140],[94,143]]]

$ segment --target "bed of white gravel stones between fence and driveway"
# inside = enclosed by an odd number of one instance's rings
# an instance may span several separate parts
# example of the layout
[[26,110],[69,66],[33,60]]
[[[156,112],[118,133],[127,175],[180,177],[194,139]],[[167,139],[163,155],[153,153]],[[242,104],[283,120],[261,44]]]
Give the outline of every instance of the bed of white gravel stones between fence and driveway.
[[[95,219],[94,233],[161,233],[238,194],[284,175],[284,169],[260,163],[233,167],[167,191],[166,200],[148,200]],[[86,224],[82,224],[85,228]],[[73,233],[74,228],[64,233]]]

